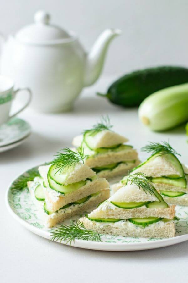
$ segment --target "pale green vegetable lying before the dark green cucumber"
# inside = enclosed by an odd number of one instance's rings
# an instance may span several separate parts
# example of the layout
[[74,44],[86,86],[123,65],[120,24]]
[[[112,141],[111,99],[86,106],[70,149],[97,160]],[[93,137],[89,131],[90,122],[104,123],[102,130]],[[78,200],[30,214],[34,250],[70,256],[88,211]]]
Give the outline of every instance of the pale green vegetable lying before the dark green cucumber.
[[188,121],[188,83],[149,95],[140,104],[138,116],[150,130],[163,131]]

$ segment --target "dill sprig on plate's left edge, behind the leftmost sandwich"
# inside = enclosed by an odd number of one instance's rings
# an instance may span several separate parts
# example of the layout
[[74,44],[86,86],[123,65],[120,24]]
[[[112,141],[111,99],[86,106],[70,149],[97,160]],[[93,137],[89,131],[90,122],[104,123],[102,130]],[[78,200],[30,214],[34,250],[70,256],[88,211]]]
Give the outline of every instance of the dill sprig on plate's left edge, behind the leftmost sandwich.
[[17,180],[13,182],[13,190],[25,190],[27,189],[27,182],[33,181],[35,177],[39,177],[39,171],[36,169],[30,169],[26,172],[27,175],[20,176]]

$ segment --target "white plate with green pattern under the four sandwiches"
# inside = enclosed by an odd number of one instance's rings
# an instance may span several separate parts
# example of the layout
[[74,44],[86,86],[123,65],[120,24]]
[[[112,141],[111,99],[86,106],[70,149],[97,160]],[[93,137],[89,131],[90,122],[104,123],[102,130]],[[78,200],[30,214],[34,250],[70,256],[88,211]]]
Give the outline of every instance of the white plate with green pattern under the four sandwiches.
[[[35,167],[35,169],[37,168],[38,166]],[[26,173],[22,174],[21,176],[25,174]],[[14,189],[13,184],[11,184],[6,192],[6,204],[11,215],[21,225],[25,226],[28,230],[39,236],[50,239],[51,231],[55,227],[44,228],[44,225],[38,216],[35,204],[30,198],[29,192],[26,190],[17,191]],[[102,235],[102,242],[75,240],[75,242],[71,243],[71,246],[102,251],[137,251],[166,247],[187,241],[188,207],[177,206],[176,215],[180,217],[180,221],[176,223],[176,236],[174,238],[149,239]],[[77,218],[79,218],[79,215]],[[64,223],[69,224],[70,220],[67,220]],[[58,226],[59,225],[56,227]]]

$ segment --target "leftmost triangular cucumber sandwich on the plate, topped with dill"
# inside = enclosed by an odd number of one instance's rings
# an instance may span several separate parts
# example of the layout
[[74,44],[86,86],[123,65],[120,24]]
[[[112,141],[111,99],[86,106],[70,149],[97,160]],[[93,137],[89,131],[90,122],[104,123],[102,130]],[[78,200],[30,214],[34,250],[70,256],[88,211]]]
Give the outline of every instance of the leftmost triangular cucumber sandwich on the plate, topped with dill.
[[[58,153],[48,165],[40,166],[40,177],[28,182],[46,227],[96,207],[109,197],[109,183],[83,164],[83,148]],[[82,162],[81,162],[82,161]]]

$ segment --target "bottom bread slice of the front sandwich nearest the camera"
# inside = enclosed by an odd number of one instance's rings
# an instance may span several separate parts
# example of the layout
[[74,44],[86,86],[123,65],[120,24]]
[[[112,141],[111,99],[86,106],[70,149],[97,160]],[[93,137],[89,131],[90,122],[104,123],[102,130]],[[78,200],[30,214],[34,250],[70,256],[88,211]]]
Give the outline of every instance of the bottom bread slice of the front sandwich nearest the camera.
[[79,219],[86,229],[93,230],[99,234],[108,234],[114,236],[128,237],[147,237],[147,238],[171,238],[175,236],[175,225],[173,221],[165,222],[162,225],[148,225],[145,228],[138,225],[127,225],[127,227],[119,228],[110,225],[98,225],[99,222],[91,221],[86,217]]

